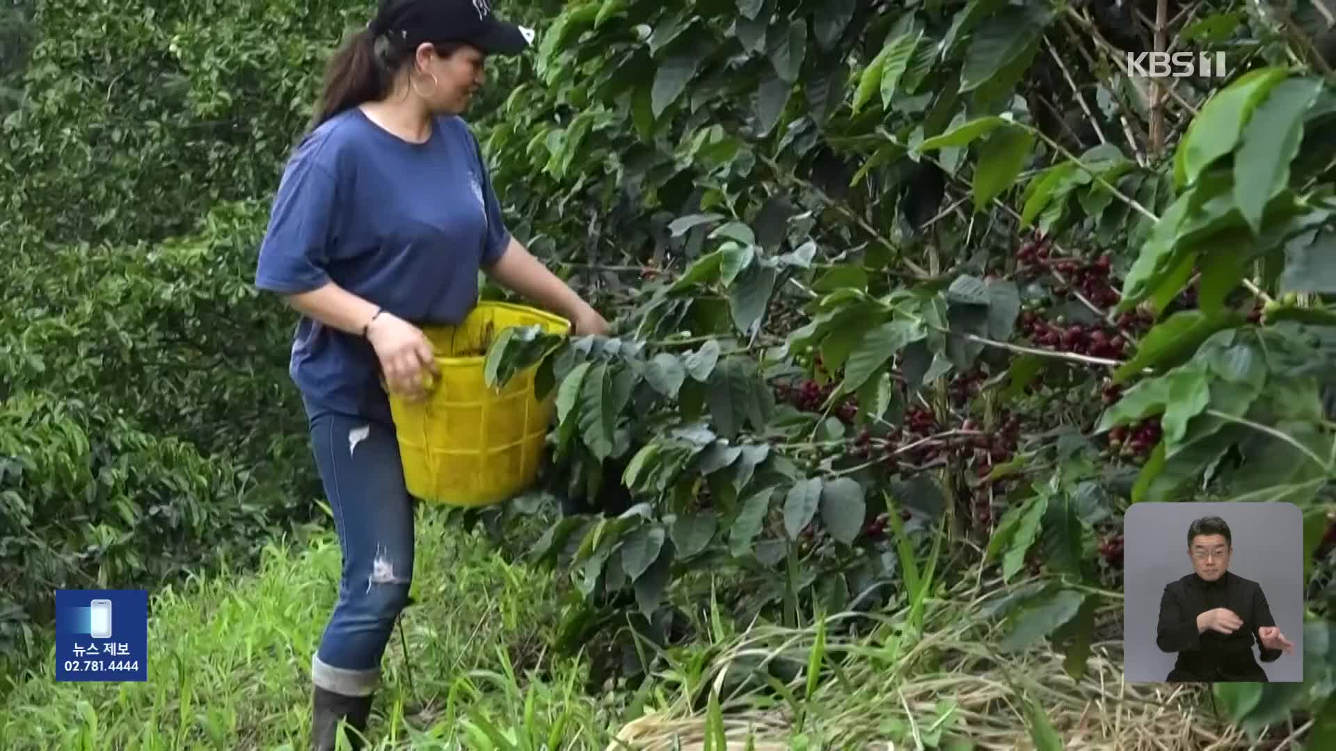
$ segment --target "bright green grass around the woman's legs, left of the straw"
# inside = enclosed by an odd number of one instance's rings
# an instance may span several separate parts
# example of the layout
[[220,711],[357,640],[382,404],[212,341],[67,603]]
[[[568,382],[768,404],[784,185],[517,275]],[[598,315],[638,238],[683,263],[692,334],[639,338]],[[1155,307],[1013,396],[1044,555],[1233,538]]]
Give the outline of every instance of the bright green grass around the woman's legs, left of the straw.
[[[386,651],[370,735],[383,747],[601,747],[612,706],[582,695],[580,660],[542,651],[558,615],[552,575],[430,513],[418,529],[415,603]],[[326,536],[302,551],[266,545],[254,575],[155,592],[146,683],[56,683],[48,647],[0,707],[0,748],[307,747],[310,657],[338,572]]]

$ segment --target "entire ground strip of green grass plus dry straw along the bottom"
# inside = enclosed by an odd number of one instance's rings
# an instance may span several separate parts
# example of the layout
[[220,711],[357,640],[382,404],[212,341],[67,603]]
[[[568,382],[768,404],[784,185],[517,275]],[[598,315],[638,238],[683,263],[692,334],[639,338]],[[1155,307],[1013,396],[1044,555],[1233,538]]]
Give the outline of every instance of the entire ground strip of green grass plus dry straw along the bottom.
[[[660,653],[635,692],[591,695],[587,660],[546,649],[568,601],[561,577],[509,563],[438,514],[418,531],[415,603],[386,653],[373,748],[1222,750],[1241,739],[1200,690],[1126,684],[1118,641],[1093,644],[1079,679],[1046,647],[998,655],[989,603],[1003,584],[949,581],[937,547],[922,561],[898,549],[911,581],[880,613],[748,625],[708,595],[699,641]],[[266,545],[251,575],[154,593],[147,683],[56,683],[48,645],[0,706],[0,748],[306,748],[310,656],[338,571],[326,535]]]

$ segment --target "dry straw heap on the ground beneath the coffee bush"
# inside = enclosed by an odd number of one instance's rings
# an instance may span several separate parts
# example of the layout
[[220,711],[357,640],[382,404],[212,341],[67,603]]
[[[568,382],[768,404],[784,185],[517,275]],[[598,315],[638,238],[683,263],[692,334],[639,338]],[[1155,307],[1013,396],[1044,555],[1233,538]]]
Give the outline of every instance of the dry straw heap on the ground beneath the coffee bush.
[[[822,676],[808,708],[808,736],[819,739],[822,748],[912,750],[915,736],[938,716],[939,702],[951,700],[953,735],[971,740],[977,751],[1023,751],[1035,747],[1026,726],[1029,699],[1047,714],[1069,751],[1224,751],[1250,746],[1240,728],[1210,716],[1202,687],[1125,682],[1121,640],[1096,643],[1085,675],[1073,679],[1063,667],[1065,656],[1047,645],[997,655],[990,645],[995,639],[981,637],[981,627],[987,631],[995,620],[978,615],[979,589],[957,596],[954,601],[937,600],[925,633],[906,640],[900,649],[878,643],[879,637],[831,637],[827,653],[850,652],[840,668],[844,680],[828,672]],[[887,623],[896,620],[899,616]],[[815,628],[756,627],[712,665],[711,682],[719,691],[724,668],[735,660],[806,664],[815,641]],[[802,675],[790,683],[794,695],[804,695],[804,683]],[[748,707],[747,698],[720,699],[729,751],[790,747],[790,718],[770,710],[759,712]],[[888,735],[883,730],[887,724],[908,731]],[[704,714],[651,714],[623,727],[608,751],[703,751],[705,728]]]

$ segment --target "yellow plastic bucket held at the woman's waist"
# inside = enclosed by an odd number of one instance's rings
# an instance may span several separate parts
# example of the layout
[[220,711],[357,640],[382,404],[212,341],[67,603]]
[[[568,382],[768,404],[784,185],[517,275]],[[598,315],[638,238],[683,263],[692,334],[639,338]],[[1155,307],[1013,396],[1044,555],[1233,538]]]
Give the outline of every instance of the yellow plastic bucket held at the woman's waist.
[[506,302],[480,302],[458,326],[424,326],[441,377],[422,401],[390,392],[403,480],[414,497],[453,506],[488,506],[525,490],[538,474],[556,389],[534,396],[537,366],[498,392],[482,377],[486,350],[510,326],[562,335],[570,322]]

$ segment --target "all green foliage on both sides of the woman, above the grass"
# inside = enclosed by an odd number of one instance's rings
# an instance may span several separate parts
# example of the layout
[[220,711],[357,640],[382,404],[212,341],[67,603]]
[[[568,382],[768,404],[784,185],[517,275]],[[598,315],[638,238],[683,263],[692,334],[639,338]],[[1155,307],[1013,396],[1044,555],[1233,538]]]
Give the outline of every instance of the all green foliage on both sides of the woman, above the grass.
[[[0,9],[0,660],[33,656],[53,588],[154,587],[321,525],[286,374],[294,317],[248,281],[323,59],[367,5]],[[578,494],[612,465],[635,501],[538,540],[574,584],[564,645],[628,623],[664,641],[703,596],[796,625],[1033,565],[1053,579],[994,611],[1003,645],[1049,637],[1079,672],[1118,580],[1096,549],[1129,501],[1289,500],[1313,673],[1261,702],[1220,694],[1255,727],[1329,710],[1316,552],[1336,456],[1336,91],[1320,13],[1281,5],[1295,24],[1206,4],[1193,41],[1242,64],[1184,83],[1196,114],[1166,118],[1089,43],[1110,27],[1083,5],[497,3],[541,33],[492,63],[469,116],[508,222],[619,323],[544,366],[568,472],[546,490]],[[1062,63],[1065,40],[1083,55]],[[1124,139],[1129,120],[1168,136]],[[1034,230],[1073,259],[1112,257],[1117,302],[1026,277]],[[1149,323],[1117,359],[1018,326],[1022,310],[1098,327],[1138,309]],[[534,351],[510,342],[500,370]],[[986,388],[953,401],[970,373]],[[828,400],[778,398],[791,380]],[[1105,410],[1092,396],[1113,386]],[[941,452],[906,466],[848,450],[911,408]],[[955,441],[999,433],[1005,412],[1023,418],[1005,461]],[[1164,430],[1149,456],[1112,445],[1146,420]],[[979,498],[995,525],[971,517]],[[553,506],[528,497],[489,522]],[[943,541],[942,569],[919,571]],[[704,589],[719,572],[723,591]]]

